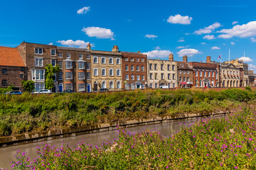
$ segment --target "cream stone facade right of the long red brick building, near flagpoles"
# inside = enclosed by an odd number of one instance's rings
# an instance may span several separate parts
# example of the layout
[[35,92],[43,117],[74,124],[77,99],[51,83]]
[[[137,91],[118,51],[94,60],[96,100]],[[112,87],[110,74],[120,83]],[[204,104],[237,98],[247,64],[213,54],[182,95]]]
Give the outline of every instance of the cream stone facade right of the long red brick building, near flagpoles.
[[221,64],[221,87],[240,87],[240,68],[233,64]]

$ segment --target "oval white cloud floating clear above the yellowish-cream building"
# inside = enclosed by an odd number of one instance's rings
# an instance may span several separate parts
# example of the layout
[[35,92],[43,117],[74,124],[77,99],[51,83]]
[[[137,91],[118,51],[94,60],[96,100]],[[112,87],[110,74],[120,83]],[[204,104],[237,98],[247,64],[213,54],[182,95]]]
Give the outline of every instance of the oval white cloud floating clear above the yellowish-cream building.
[[107,28],[87,27],[82,28],[82,31],[85,32],[89,37],[111,38],[111,40],[114,40],[114,33],[112,30]]

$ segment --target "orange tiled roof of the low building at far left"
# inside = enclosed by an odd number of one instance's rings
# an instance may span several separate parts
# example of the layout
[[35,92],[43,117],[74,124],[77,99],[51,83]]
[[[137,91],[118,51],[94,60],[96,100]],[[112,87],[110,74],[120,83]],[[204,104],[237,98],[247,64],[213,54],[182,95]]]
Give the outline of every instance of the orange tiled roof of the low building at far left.
[[0,47],[0,66],[25,67],[18,48]]

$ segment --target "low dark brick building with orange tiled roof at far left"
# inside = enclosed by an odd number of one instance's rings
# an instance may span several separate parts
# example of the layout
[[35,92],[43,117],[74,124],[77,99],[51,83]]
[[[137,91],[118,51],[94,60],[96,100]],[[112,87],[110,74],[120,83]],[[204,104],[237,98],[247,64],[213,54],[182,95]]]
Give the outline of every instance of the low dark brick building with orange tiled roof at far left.
[[18,48],[0,47],[0,88],[10,84],[21,90],[21,81],[26,78],[26,66],[18,52]]

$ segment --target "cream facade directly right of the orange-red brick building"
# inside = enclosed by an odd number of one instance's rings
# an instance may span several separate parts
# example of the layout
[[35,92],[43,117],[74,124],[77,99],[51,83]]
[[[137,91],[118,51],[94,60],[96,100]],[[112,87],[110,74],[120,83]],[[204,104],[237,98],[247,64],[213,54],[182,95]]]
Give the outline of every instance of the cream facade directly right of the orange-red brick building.
[[170,60],[147,60],[148,87],[157,89],[160,86],[175,88],[178,86],[177,62]]

